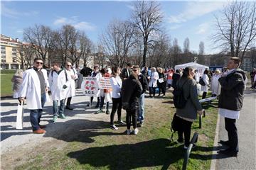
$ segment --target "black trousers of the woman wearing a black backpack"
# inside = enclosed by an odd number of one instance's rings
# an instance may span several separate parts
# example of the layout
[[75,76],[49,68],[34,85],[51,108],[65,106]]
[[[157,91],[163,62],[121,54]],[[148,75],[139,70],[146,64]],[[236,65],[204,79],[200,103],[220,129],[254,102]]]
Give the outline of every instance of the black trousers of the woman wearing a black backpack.
[[178,141],[183,141],[183,133],[185,138],[185,146],[188,147],[190,143],[190,136],[191,136],[191,125],[192,122],[183,120],[182,118],[178,117],[178,122],[181,124],[180,130],[178,130]]

